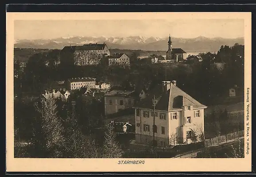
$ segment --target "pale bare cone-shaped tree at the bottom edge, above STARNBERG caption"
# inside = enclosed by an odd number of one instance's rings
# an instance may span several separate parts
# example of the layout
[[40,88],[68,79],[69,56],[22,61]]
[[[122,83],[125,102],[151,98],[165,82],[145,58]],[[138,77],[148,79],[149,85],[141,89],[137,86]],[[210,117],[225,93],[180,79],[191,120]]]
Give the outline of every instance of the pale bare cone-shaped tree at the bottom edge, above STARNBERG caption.
[[123,151],[116,142],[112,124],[106,126],[105,142],[103,145],[103,158],[121,158]]

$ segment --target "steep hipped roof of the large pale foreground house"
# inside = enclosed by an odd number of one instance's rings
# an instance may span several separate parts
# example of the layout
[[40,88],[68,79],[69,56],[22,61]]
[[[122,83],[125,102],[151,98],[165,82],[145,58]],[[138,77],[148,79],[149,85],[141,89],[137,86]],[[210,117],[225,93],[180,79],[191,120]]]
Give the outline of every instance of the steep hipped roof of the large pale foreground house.
[[171,83],[170,89],[166,92],[163,92],[158,85],[153,92],[151,91],[150,94],[145,99],[138,102],[134,108],[152,109],[153,94],[155,94],[155,99],[157,100],[157,104],[155,105],[156,110],[174,111],[182,109],[183,106],[193,106],[193,108],[207,108],[205,105],[195,100],[192,96],[189,96],[189,94],[182,91],[176,85],[173,85],[173,83]]

